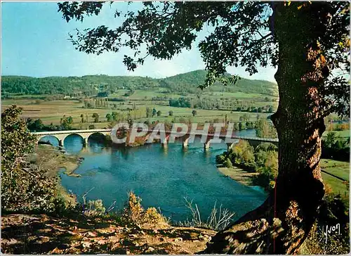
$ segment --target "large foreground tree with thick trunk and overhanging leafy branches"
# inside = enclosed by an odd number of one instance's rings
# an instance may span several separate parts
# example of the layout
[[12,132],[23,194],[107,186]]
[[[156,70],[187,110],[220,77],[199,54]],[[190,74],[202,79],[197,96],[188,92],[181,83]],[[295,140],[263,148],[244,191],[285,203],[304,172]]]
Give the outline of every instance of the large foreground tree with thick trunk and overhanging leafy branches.
[[[102,2],[64,2],[67,22],[98,15]],[[116,11],[116,16],[121,15]],[[213,27],[199,43],[208,74],[202,88],[216,80],[236,82],[226,68],[277,66],[279,105],[272,121],[279,138],[275,193],[258,209],[213,237],[205,252],[296,253],[307,237],[324,196],[319,168],[324,117],[349,113],[350,24],[348,2],[143,2],[128,11],[117,28],[105,26],[71,35],[79,51],[102,53],[129,47],[124,56],[135,70],[147,56],[171,59],[205,25]],[[274,196],[277,195],[277,196]]]

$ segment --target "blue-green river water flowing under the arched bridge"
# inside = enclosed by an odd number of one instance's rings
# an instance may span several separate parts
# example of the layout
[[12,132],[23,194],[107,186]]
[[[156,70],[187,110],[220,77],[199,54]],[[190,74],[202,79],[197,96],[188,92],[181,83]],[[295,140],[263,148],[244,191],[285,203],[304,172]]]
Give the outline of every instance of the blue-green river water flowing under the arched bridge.
[[[255,130],[237,132],[239,136],[256,136]],[[62,186],[81,196],[90,191],[87,200],[102,199],[105,207],[114,201],[117,210],[124,207],[128,191],[142,198],[143,207],[157,207],[173,222],[190,219],[185,198],[199,207],[207,219],[213,205],[235,212],[238,219],[258,207],[266,198],[263,191],[239,184],[216,168],[216,155],[226,151],[225,143],[213,143],[204,151],[203,143],[195,140],[185,151],[180,142],[162,148],[159,143],[135,148],[111,148],[88,141],[83,148],[77,135],[65,139],[67,153],[84,158],[69,177],[60,172]]]

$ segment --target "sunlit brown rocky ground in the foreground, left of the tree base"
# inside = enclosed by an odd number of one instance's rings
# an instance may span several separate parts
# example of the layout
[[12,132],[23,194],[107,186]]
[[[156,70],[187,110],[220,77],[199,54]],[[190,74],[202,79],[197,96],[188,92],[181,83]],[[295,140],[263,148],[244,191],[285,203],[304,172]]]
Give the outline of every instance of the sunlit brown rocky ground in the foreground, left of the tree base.
[[189,227],[119,226],[99,218],[1,217],[1,252],[11,254],[194,254],[216,231]]

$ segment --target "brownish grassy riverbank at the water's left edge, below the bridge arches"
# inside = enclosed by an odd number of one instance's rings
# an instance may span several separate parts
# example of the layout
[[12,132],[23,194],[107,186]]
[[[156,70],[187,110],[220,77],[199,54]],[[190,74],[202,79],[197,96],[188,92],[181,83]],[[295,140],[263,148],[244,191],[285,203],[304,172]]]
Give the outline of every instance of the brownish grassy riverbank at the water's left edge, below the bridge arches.
[[[37,145],[34,153],[28,155],[28,162],[32,165],[37,165],[46,169],[48,177],[58,177],[60,169],[65,169],[65,174],[72,177],[80,177],[79,174],[74,174],[74,170],[80,165],[83,158],[78,155],[67,155],[51,145]],[[74,195],[68,193],[64,188],[60,179],[57,184],[58,194],[64,198],[67,205],[76,205],[77,199]]]

